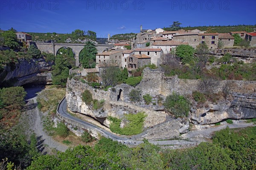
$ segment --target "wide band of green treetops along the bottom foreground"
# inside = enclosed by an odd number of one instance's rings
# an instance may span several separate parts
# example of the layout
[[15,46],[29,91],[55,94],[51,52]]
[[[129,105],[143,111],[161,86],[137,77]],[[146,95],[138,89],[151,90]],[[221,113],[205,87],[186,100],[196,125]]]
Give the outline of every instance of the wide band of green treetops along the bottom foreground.
[[252,170],[256,167],[255,137],[256,127],[236,132],[227,128],[216,132],[212,143],[184,150],[161,149],[147,140],[129,148],[102,138],[94,147],[80,145],[57,155],[40,156],[28,169]]

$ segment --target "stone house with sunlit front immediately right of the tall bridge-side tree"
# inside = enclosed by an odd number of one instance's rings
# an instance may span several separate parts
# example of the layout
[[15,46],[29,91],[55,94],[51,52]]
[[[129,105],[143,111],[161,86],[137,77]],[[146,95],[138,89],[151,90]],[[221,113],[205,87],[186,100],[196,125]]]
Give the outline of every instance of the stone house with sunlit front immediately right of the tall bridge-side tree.
[[106,62],[113,62],[121,67],[122,50],[111,50],[96,54],[96,64],[104,64]]

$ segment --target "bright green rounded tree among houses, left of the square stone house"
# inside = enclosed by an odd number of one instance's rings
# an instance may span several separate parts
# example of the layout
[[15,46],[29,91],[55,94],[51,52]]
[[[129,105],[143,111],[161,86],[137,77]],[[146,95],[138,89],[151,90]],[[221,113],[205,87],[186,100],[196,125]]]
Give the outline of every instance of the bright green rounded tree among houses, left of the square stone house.
[[192,62],[194,59],[195,49],[190,45],[178,45],[176,55],[180,57],[183,64]]

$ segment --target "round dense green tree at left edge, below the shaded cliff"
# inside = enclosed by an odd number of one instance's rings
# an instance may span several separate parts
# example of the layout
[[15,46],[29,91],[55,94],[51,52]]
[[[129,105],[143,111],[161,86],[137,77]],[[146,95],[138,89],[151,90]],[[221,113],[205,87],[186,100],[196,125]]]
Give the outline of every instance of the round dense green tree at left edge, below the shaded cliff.
[[10,87],[3,88],[0,91],[0,98],[3,105],[10,106],[12,108],[21,108],[25,102],[26,91],[23,87]]

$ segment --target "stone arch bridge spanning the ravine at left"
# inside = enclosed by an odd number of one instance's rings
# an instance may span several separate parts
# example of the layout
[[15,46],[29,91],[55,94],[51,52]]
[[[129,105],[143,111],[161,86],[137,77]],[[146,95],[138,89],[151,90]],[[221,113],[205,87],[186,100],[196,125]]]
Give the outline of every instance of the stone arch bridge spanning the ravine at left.
[[[34,42],[34,44],[41,52],[54,54],[55,56],[60,48],[62,47],[71,48],[76,57],[76,66],[79,65],[79,54],[85,45],[85,44],[49,43],[49,42]],[[96,46],[96,49],[98,50],[98,53],[102,53],[103,51],[114,47],[114,45],[110,45],[110,44],[96,44],[95,46]]]

